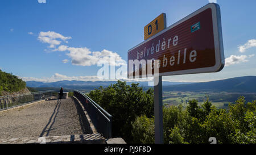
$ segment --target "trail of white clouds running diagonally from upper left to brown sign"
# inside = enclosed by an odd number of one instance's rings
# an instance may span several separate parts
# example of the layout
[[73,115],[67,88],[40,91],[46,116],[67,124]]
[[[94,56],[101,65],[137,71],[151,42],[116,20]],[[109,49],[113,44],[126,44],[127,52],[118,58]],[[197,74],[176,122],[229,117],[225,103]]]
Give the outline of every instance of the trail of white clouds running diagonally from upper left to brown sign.
[[[68,51],[66,55],[71,57],[72,65],[91,66],[105,63],[109,63],[112,66],[126,65],[126,61],[123,60],[118,53],[108,51],[107,49],[92,52],[86,47],[76,48],[61,45],[62,41],[68,43],[67,40],[71,38],[72,37],[65,37],[53,31],[40,32],[38,36],[38,40],[42,43],[49,44],[48,48],[54,48],[52,51]],[[59,47],[56,48],[57,45],[59,45]],[[66,63],[66,61],[64,63]]]

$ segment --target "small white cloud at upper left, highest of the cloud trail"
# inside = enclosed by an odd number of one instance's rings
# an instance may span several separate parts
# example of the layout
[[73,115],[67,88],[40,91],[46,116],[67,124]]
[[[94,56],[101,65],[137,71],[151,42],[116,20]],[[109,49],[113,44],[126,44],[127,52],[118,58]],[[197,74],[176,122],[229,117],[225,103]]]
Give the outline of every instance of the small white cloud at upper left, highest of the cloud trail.
[[[49,48],[55,48],[56,45],[60,45],[62,41],[67,43],[68,39],[71,39],[72,37],[68,36],[65,37],[61,35],[60,33],[56,33],[53,31],[48,32],[40,32],[38,36],[38,40],[40,40],[42,43],[48,43]],[[60,40],[57,40],[60,39]]]

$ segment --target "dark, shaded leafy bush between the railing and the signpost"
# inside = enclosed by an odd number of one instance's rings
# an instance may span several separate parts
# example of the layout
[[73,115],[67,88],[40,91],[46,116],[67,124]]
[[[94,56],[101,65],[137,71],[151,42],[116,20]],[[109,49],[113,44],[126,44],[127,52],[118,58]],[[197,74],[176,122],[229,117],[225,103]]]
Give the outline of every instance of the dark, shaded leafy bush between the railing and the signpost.
[[114,85],[99,87],[90,91],[89,97],[113,116],[113,137],[122,137],[127,143],[134,143],[131,136],[132,123],[139,116],[152,118],[154,115],[154,91],[143,91],[139,83],[126,85],[118,81]]

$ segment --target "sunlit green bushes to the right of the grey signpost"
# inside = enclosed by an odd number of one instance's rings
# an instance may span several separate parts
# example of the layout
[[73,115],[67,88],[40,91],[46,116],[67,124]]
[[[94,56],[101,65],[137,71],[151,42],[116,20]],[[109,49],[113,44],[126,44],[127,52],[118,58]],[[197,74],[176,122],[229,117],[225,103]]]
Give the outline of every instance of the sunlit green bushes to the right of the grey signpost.
[[164,143],[209,143],[209,137],[217,143],[256,143],[256,100],[246,104],[240,97],[227,110],[217,110],[209,100],[202,107],[197,100],[188,104],[163,108]]

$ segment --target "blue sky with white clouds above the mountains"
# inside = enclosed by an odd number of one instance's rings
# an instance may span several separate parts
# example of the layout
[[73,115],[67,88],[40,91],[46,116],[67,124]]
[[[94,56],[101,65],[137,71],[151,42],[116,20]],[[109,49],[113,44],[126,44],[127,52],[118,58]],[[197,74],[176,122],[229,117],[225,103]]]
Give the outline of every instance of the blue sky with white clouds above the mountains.
[[[39,3],[40,2],[40,3]],[[26,81],[95,80],[97,62],[127,61],[143,28],[162,12],[167,27],[207,5],[208,0],[84,1],[3,0],[0,5],[0,69]],[[218,0],[226,64],[218,73],[166,76],[200,82],[256,76],[256,1]]]

